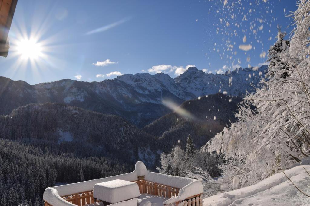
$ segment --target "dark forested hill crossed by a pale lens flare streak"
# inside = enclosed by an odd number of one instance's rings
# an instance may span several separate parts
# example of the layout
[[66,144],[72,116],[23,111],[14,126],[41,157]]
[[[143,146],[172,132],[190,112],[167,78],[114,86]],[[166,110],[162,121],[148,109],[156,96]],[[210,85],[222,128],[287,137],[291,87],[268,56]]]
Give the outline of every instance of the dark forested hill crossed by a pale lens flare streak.
[[188,134],[191,134],[196,148],[199,148],[237,120],[235,113],[240,103],[241,98],[220,93],[203,96],[182,103],[174,112],[155,120],[143,130],[169,148],[174,145],[183,148]]

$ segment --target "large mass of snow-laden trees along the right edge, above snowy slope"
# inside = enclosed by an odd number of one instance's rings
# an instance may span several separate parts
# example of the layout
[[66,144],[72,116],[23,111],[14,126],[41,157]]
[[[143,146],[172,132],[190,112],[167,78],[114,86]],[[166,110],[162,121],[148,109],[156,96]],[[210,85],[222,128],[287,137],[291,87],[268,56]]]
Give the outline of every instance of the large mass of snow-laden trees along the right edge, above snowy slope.
[[222,181],[228,187],[257,183],[310,154],[309,12],[309,1],[299,1],[290,47],[278,33],[263,87],[245,98],[237,114],[240,121],[204,147],[223,155]]

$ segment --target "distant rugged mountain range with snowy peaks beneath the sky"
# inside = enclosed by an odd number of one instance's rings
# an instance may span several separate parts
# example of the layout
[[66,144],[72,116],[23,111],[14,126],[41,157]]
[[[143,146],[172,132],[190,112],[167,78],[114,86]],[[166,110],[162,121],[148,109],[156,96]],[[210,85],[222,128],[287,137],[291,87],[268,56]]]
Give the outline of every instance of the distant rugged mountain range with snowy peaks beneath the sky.
[[163,73],[144,73],[126,74],[102,82],[63,79],[32,86],[23,81],[0,77],[0,85],[3,85],[0,114],[8,114],[14,108],[28,103],[58,102],[119,115],[138,127],[144,127],[170,112],[163,105],[163,99],[179,105],[186,100],[218,92],[242,96],[257,86],[266,70],[267,66],[257,70],[239,68],[220,75],[206,74],[196,67],[190,67],[175,79]]

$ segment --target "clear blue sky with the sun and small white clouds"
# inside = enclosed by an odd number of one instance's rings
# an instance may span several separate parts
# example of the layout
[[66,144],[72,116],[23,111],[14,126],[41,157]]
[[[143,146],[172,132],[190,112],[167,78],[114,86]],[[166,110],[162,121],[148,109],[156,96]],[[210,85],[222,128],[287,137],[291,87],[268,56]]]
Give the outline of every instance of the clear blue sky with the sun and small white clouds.
[[[289,37],[285,15],[294,10],[294,0],[19,0],[0,75],[36,84],[143,72],[174,78],[188,65],[212,73],[257,66],[277,24]],[[21,49],[25,39],[33,46]]]

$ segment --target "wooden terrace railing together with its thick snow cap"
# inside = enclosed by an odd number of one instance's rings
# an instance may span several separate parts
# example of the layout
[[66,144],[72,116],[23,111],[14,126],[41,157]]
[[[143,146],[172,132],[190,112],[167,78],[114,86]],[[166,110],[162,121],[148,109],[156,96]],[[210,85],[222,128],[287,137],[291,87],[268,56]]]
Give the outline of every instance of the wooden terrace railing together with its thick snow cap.
[[146,193],[169,198],[164,201],[164,205],[191,205],[194,201],[196,205],[202,206],[203,187],[200,181],[149,172],[143,162],[140,161],[135,164],[135,170],[130,173],[80,183],[48,187],[44,191],[43,200],[45,206],[81,206],[93,204],[95,203],[92,191],[94,185],[116,179],[137,183],[141,194]]

